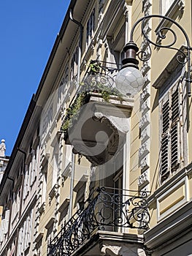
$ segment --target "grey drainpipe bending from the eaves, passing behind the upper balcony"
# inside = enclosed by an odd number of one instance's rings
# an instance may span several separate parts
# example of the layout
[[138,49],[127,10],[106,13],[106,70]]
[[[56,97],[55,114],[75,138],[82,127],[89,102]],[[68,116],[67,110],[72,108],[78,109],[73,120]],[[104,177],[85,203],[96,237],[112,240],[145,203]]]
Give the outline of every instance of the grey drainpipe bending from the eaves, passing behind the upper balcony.
[[[82,54],[82,23],[75,20],[72,17],[72,10],[69,12],[69,18],[72,22],[76,23],[80,27],[80,42],[78,47],[78,64],[77,64],[77,88],[80,86],[80,64],[81,64],[81,54]],[[74,171],[75,171],[75,156],[72,152],[72,173],[71,173],[71,184],[70,184],[70,195],[69,195],[69,219],[72,217],[73,211],[73,189],[74,189]]]

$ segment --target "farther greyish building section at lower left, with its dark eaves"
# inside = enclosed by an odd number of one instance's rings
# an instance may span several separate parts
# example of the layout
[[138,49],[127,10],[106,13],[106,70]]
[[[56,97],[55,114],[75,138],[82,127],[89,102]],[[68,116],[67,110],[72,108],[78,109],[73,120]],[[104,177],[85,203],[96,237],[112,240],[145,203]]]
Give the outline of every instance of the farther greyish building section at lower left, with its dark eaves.
[[34,252],[39,176],[39,110],[32,97],[1,179],[2,256],[33,255]]

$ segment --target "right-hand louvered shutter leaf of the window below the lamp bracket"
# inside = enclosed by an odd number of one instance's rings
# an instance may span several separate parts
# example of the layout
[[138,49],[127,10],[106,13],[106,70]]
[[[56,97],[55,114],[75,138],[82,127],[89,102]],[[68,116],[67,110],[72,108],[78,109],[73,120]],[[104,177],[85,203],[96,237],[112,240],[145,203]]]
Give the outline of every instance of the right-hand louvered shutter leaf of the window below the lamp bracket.
[[180,165],[180,94],[179,87],[172,93],[172,124],[171,124],[171,170]]

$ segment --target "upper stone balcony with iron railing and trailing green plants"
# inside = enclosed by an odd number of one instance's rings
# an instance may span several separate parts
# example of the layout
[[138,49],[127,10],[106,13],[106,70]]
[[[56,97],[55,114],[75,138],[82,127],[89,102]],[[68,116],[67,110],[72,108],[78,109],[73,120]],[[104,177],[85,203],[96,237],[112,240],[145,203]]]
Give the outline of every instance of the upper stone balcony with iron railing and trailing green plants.
[[118,151],[134,105],[132,97],[123,97],[115,89],[116,69],[100,69],[99,64],[93,66],[83,80],[61,127],[74,154],[82,154],[93,165],[103,165]]

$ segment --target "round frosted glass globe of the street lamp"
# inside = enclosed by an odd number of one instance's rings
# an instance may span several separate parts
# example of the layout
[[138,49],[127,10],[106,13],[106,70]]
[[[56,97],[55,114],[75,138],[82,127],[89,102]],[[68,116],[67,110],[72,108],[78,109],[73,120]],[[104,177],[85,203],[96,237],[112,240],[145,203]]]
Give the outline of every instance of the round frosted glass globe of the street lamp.
[[135,67],[120,69],[115,79],[115,84],[121,94],[135,95],[144,85],[142,73]]

